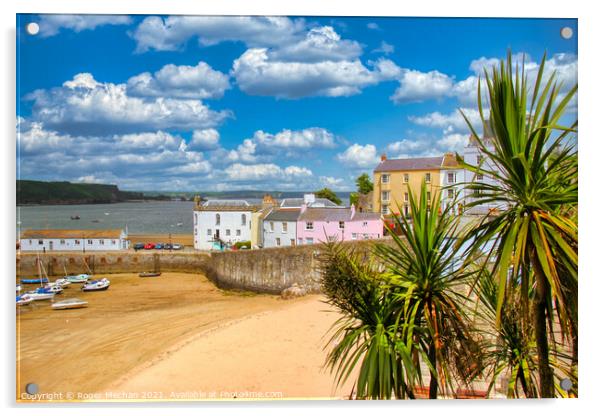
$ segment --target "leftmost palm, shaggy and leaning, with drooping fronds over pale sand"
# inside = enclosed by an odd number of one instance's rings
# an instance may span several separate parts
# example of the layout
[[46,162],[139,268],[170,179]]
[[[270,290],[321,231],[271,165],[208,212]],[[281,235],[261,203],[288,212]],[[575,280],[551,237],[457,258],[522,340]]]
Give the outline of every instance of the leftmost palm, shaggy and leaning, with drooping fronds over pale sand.
[[342,314],[326,345],[337,385],[359,363],[357,398],[414,398],[415,370],[397,330],[399,304],[382,273],[365,254],[337,242],[323,245],[319,261],[322,292]]

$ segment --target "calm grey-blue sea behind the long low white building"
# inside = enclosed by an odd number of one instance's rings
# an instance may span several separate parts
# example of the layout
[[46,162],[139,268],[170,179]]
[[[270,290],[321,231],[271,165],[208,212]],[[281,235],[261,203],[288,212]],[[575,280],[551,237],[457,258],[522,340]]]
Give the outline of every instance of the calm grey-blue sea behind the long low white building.
[[[125,229],[127,225],[131,234],[192,234],[193,205],[192,201],[161,201],[17,207],[17,232],[20,220],[21,230]],[[71,220],[72,215],[81,219]]]

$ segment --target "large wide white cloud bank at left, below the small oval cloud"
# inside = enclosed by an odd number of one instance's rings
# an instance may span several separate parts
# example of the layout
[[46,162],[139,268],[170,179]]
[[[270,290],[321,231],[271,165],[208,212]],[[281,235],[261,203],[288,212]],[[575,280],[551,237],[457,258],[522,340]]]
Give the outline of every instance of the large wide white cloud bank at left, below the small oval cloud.
[[131,97],[125,84],[101,83],[89,73],[77,74],[62,87],[36,90],[27,98],[33,101],[34,120],[69,134],[204,129],[230,116],[198,100]]

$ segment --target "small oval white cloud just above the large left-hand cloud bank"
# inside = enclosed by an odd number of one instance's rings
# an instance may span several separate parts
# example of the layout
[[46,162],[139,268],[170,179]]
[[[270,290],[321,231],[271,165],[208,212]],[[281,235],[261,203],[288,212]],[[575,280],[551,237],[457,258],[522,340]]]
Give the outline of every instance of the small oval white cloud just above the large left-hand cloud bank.
[[127,93],[134,97],[221,98],[230,88],[228,78],[202,61],[196,66],[169,64],[154,74],[143,72],[131,77]]

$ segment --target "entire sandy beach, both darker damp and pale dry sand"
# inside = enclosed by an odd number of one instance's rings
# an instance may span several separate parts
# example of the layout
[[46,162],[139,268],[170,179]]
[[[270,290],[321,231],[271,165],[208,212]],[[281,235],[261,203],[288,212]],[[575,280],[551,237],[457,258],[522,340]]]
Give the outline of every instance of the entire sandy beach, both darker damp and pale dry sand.
[[[339,398],[323,370],[338,318],[318,296],[225,292],[200,275],[109,275],[107,292],[71,285],[17,315],[18,392],[36,383],[61,400]],[[19,395],[19,398],[22,398]]]

